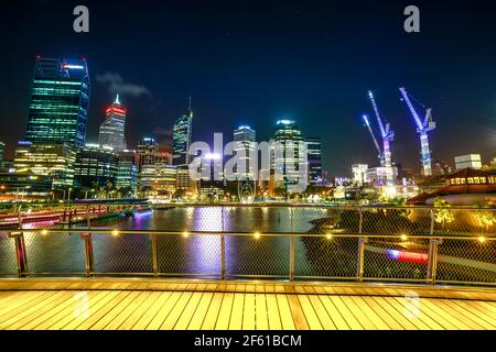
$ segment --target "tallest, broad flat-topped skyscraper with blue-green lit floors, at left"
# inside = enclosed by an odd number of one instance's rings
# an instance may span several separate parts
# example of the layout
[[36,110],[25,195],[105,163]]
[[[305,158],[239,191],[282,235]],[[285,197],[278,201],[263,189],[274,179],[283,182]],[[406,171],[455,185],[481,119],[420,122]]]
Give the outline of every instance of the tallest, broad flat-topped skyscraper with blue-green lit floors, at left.
[[36,58],[26,141],[83,146],[88,108],[85,59]]

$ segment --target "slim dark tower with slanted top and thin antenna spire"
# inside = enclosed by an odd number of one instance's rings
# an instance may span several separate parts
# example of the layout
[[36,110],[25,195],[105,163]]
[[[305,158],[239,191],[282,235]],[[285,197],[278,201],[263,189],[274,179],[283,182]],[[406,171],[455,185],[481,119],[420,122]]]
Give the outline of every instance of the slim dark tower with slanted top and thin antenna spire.
[[185,114],[175,120],[174,131],[173,131],[173,153],[172,160],[173,164],[176,166],[185,166],[190,164],[190,151],[191,139],[192,139],[192,124],[193,124],[193,110],[191,108],[191,97],[190,106]]

